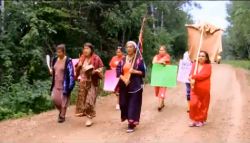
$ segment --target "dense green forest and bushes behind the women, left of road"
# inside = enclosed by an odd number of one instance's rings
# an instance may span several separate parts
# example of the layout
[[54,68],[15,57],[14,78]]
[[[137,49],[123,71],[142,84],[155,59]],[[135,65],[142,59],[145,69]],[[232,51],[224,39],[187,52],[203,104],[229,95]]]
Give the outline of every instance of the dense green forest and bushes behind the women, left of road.
[[[67,55],[77,58],[82,45],[91,42],[108,68],[118,45],[138,41],[146,13],[143,58],[147,67],[163,44],[175,61],[187,47],[184,25],[192,23],[182,10],[184,5],[200,8],[190,1],[5,1],[0,21],[0,120],[54,108],[45,55],[55,56],[57,45],[65,44]],[[150,73],[148,68],[146,83]],[[109,94],[102,88],[100,95]],[[71,104],[76,100],[77,86]]]

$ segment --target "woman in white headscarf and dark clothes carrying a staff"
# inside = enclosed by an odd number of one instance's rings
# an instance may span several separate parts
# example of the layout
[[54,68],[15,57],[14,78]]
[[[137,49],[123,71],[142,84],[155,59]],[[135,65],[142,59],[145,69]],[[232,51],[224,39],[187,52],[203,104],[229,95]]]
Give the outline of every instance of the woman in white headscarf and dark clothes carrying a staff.
[[[146,68],[144,61],[140,56],[135,57],[137,45],[134,41],[126,43],[127,56],[122,58],[116,67],[117,77],[120,78],[119,86],[119,103],[121,110],[121,121],[128,120],[128,133],[133,132],[139,124],[143,78],[145,77]],[[135,59],[134,67],[132,61]],[[129,74],[131,74],[129,78]]]

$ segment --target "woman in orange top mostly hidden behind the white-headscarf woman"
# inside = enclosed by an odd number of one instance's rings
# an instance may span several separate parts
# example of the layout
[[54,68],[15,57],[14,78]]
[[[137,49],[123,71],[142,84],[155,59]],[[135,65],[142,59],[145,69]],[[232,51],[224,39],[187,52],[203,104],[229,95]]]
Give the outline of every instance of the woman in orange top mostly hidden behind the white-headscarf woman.
[[[116,56],[114,56],[111,61],[109,62],[109,66],[110,68],[113,70],[113,69],[116,69],[118,63],[121,61],[122,58],[124,58],[125,56],[123,55],[123,49],[122,47],[118,47],[117,50],[116,50]],[[117,97],[117,104],[116,104],[116,110],[120,110],[120,105],[119,105],[119,88],[117,87],[115,89],[115,94],[116,94],[116,97]]]

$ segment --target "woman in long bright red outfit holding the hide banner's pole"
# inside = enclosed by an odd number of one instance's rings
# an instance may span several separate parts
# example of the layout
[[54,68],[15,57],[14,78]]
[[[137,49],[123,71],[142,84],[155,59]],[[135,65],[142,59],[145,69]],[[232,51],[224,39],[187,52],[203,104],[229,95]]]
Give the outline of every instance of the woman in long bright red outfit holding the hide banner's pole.
[[190,94],[190,127],[201,127],[207,119],[210,102],[210,77],[212,74],[212,66],[210,63],[208,53],[201,51],[196,74],[194,75],[195,63],[190,72],[189,80],[190,84],[193,85]]

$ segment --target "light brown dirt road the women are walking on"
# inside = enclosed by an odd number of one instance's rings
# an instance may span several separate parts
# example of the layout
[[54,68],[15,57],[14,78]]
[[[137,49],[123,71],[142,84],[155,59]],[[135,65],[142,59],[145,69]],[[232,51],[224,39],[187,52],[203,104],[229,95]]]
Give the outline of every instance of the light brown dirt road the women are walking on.
[[144,88],[141,123],[134,133],[126,133],[120,122],[113,95],[99,98],[92,127],[86,118],[68,110],[66,122],[56,122],[57,112],[0,123],[0,142],[250,142],[250,97],[246,72],[228,65],[213,65],[211,104],[208,121],[201,128],[188,127],[185,85],[167,91],[166,107],[157,111],[153,88]]

